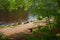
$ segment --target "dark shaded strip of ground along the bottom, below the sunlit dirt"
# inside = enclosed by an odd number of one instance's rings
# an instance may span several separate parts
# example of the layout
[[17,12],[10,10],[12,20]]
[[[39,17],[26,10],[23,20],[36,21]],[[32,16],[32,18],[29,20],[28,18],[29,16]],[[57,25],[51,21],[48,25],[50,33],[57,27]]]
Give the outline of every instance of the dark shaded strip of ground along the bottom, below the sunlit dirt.
[[34,34],[19,33],[11,35],[10,40],[60,40],[60,36],[57,37],[55,33],[51,32],[36,32]]

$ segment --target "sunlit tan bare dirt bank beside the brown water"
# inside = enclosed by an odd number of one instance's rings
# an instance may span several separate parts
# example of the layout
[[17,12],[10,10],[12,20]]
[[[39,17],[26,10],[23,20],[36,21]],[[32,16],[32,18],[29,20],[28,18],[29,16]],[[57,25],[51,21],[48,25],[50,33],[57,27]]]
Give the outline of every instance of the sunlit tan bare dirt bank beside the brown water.
[[[45,25],[44,23],[40,23],[40,24]],[[34,28],[34,27],[36,27],[34,22],[30,22],[27,24],[17,25],[17,27],[13,27],[13,28],[8,27],[8,28],[0,29],[0,32],[2,32],[6,36],[10,36],[21,32],[30,33],[28,28]]]

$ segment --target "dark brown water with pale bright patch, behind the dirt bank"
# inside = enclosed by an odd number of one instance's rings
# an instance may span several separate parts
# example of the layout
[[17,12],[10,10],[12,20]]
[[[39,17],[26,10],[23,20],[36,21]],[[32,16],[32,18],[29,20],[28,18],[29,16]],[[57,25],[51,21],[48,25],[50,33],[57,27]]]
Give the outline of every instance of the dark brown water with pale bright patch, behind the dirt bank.
[[33,17],[30,13],[24,11],[23,9],[19,9],[14,12],[7,12],[5,10],[0,11],[0,25],[16,22],[21,23],[27,20],[31,21],[35,19],[35,17]]

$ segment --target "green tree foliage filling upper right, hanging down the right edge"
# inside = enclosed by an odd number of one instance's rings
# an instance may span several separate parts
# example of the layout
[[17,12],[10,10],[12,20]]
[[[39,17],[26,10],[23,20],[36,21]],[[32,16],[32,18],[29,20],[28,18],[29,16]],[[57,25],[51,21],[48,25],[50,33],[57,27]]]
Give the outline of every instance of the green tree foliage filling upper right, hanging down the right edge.
[[[55,18],[56,27],[60,26],[60,1],[59,0],[35,0],[34,6],[31,8],[30,12],[34,16],[48,17],[48,21],[51,17]],[[49,23],[50,24],[50,21]]]

